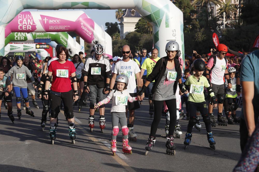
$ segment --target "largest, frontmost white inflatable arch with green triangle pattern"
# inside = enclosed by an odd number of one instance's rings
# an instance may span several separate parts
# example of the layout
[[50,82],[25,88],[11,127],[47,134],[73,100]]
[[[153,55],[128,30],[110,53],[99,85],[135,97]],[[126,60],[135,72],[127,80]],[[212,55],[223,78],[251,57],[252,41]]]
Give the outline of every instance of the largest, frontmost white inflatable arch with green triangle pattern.
[[[175,40],[179,43],[182,59],[184,59],[183,13],[168,0],[91,0],[91,2],[78,2],[78,0],[6,0],[4,2],[1,1],[0,9],[2,11],[0,14],[0,30],[4,30],[6,24],[15,18],[23,9],[134,9],[152,24],[154,47],[160,50],[159,56],[165,56],[164,47],[166,43],[170,40]],[[72,12],[66,11],[66,20],[70,20]],[[29,22],[31,22],[30,19],[21,19],[21,29],[28,29],[27,27],[31,26],[28,25],[30,24]],[[45,23],[45,21],[43,22]],[[66,26],[66,24],[60,25]],[[88,26],[82,22],[81,29],[88,33],[91,31]],[[32,30],[34,28],[35,25],[32,25],[29,32],[33,32]],[[85,32],[84,34],[86,35]],[[89,39],[91,38],[89,37]],[[0,33],[0,55],[3,53],[4,31]]]

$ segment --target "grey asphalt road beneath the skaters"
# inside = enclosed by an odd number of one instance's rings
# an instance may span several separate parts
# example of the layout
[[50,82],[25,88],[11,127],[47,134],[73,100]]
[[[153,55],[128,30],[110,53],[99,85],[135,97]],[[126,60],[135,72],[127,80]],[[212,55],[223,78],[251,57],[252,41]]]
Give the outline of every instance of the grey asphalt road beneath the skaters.
[[[76,143],[71,144],[68,125],[63,110],[59,114],[59,127],[54,145],[49,139],[49,120],[42,132],[40,127],[42,104],[37,99],[40,109],[34,111],[35,118],[22,110],[18,119],[16,106],[13,108],[15,124],[7,116],[2,105],[0,120],[0,171],[232,171],[238,162],[241,151],[239,146],[239,125],[212,128],[216,141],[216,150],[210,149],[206,137],[205,125],[199,132],[193,128],[191,145],[184,150],[184,135],[188,121],[181,120],[183,135],[175,138],[176,155],[166,154],[164,132],[165,117],[162,117],[157,130],[155,146],[145,156],[145,145],[150,133],[152,118],[148,114],[148,101],[144,100],[141,108],[135,111],[134,131],[137,141],[130,141],[132,155],[122,152],[122,133],[117,136],[117,155],[112,156],[111,139],[111,103],[106,105],[106,128],[100,132],[97,113],[95,128],[88,127],[89,108],[81,112],[74,108],[76,117]],[[89,103],[89,102],[88,102]],[[15,98],[13,97],[13,104]],[[30,105],[32,106],[31,98]],[[237,114],[239,114],[240,108]],[[214,114],[217,110],[214,109]]]

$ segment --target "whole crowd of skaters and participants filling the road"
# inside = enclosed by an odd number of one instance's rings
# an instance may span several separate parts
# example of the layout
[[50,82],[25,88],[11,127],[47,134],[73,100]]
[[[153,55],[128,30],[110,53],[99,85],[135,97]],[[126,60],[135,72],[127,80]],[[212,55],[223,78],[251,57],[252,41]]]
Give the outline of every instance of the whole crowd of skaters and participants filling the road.
[[[119,121],[123,133],[123,152],[132,153],[128,140],[136,141],[135,110],[140,108],[143,99],[149,101],[150,117],[154,115],[146,154],[155,144],[162,113],[166,113],[165,132],[168,154],[175,154],[174,137],[181,137],[180,119],[189,121],[184,140],[186,149],[191,143],[193,127],[200,131],[200,116],[205,123],[208,143],[212,149],[215,149],[216,142],[212,127],[216,127],[213,108],[217,107],[218,125],[240,123],[240,146],[243,156],[236,167],[240,170],[248,168],[244,167],[244,163],[242,164],[242,161],[248,161],[247,154],[256,151],[254,147],[249,147],[248,143],[250,145],[258,143],[257,134],[253,134],[258,130],[258,126],[256,127],[258,107],[255,106],[258,104],[258,86],[255,84],[258,81],[256,80],[258,76],[255,75],[257,70],[255,65],[258,64],[259,57],[257,49],[250,50],[249,45],[244,45],[242,53],[239,53],[224,44],[219,44],[216,49],[211,49],[210,54],[199,55],[193,51],[192,57],[185,56],[183,61],[178,43],[170,41],[166,44],[167,55],[164,57],[158,57],[157,48],[152,49],[151,56],[147,56],[147,50],[142,48],[135,53],[134,57],[130,47],[124,45],[121,50],[123,59],[113,61],[103,56],[104,47],[100,44],[94,46],[89,57],[84,58],[84,53],[79,52],[71,59],[69,59],[68,50],[58,44],[56,56],[47,57],[44,60],[34,59],[29,55],[24,57],[18,55],[11,62],[9,58],[0,57],[2,96],[0,105],[3,99],[8,109],[8,116],[14,122],[12,95],[15,94],[17,116],[21,119],[22,93],[26,113],[34,117],[28,94],[31,95],[33,105],[39,108],[35,99],[37,88],[38,98],[43,105],[42,130],[46,126],[47,113],[49,113],[49,136],[54,144],[58,114],[60,108],[63,108],[68,121],[69,136],[75,144],[73,106],[78,105],[80,110],[83,105],[87,105],[86,101],[89,98],[90,130],[94,128],[94,114],[99,108],[99,126],[103,132],[106,125],[104,104],[112,101],[111,150],[113,155],[116,154]],[[226,56],[228,52],[232,56]],[[209,103],[206,99],[209,99]],[[236,110],[239,107],[238,99],[243,99],[240,118],[236,116]],[[186,104],[186,112],[183,110],[183,103]],[[226,119],[223,116],[223,110]],[[251,164],[248,166],[252,168]]]

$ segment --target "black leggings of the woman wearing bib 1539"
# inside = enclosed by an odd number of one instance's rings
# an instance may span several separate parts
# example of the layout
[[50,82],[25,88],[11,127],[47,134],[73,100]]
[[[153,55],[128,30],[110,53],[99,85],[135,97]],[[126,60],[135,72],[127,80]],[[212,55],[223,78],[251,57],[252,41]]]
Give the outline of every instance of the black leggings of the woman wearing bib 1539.
[[[170,124],[169,124],[169,136],[174,135],[175,125],[176,125],[176,99],[165,100],[170,113]],[[150,136],[155,137],[157,127],[161,120],[163,100],[154,100],[154,119],[150,129]]]

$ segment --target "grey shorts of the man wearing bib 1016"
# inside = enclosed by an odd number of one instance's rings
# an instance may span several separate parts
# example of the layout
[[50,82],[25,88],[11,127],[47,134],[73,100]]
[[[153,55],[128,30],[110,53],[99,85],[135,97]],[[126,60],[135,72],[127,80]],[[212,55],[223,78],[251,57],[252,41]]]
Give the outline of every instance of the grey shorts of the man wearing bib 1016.
[[103,94],[103,88],[97,88],[97,85],[88,85],[90,106],[98,103],[106,98],[106,94]]

